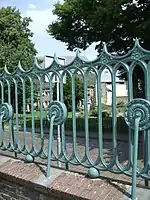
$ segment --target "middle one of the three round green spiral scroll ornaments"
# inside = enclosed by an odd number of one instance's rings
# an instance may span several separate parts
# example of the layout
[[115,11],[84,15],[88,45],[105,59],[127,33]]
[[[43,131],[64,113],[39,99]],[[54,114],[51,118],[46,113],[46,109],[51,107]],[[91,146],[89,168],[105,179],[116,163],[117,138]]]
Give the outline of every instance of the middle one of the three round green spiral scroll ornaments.
[[68,116],[66,105],[60,101],[53,101],[47,107],[47,119],[50,121],[52,116],[55,116],[54,125],[61,125],[65,122]]

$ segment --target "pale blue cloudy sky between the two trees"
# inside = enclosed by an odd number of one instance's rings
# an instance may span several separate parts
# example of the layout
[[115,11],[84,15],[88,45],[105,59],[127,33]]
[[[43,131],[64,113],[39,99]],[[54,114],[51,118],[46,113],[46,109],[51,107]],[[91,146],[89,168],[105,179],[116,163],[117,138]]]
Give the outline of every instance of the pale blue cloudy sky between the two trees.
[[[30,24],[30,29],[34,33],[32,40],[38,51],[37,56],[53,56],[54,53],[58,57],[74,56],[75,52],[68,51],[64,43],[52,38],[46,32],[48,24],[56,19],[56,16],[52,14],[55,2],[56,0],[0,0],[0,6],[15,6],[22,16],[31,17],[33,22]],[[81,55],[86,56],[88,60],[95,59],[97,57],[95,45],[93,43],[84,52],[82,51]]]

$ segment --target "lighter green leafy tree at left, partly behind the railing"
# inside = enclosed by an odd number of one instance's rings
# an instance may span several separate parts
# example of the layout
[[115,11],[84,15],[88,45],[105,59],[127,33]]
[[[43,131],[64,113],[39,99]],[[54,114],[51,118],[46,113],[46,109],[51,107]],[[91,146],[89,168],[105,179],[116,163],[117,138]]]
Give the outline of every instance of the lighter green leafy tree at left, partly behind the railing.
[[[20,60],[24,69],[33,65],[37,51],[31,42],[33,33],[29,29],[30,18],[22,17],[19,10],[12,7],[0,8],[0,72],[4,65],[10,72],[14,72]],[[28,85],[28,84],[27,84]],[[22,106],[22,85],[19,84],[19,111]],[[15,88],[11,85],[11,102],[15,108]],[[29,92],[26,91],[26,97]],[[8,100],[7,87],[5,87],[5,101]]]

